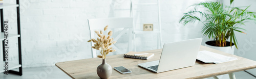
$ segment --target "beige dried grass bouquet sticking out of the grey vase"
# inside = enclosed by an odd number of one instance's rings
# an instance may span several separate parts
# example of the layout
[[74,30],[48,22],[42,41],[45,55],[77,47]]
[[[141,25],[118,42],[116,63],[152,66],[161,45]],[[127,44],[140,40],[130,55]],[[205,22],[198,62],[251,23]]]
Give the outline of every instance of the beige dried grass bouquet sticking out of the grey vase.
[[[106,25],[106,27],[104,28],[104,31],[106,31],[106,29],[108,29],[108,25]],[[100,55],[98,55],[98,58],[102,58],[105,59],[106,55],[109,54],[109,52],[114,52],[116,51],[115,49],[112,49],[112,47],[110,47],[112,44],[115,44],[116,41],[113,41],[114,38],[111,38],[112,36],[112,31],[110,31],[108,33],[108,35],[103,35],[104,31],[94,31],[99,37],[96,39],[92,38],[90,39],[88,42],[94,42],[94,46],[92,46],[92,48],[97,49],[100,51]]]

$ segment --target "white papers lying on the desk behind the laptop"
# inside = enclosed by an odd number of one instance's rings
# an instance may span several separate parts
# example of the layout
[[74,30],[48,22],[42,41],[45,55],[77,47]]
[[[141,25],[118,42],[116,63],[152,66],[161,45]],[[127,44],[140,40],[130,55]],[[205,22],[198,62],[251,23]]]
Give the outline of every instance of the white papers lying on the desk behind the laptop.
[[227,56],[220,55],[220,54],[217,54],[214,52],[203,50],[203,51],[198,52],[197,60],[200,60],[204,63],[219,64],[219,63],[223,63],[223,62],[237,60],[237,58],[227,57]]

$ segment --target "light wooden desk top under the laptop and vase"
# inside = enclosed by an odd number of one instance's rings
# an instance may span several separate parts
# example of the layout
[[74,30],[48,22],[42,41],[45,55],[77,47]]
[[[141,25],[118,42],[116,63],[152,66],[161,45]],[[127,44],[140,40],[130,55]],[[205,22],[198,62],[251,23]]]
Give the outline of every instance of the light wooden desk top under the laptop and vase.
[[[144,51],[152,52],[155,54],[154,57],[148,60],[124,58],[123,54],[108,56],[106,58],[106,62],[110,64],[112,68],[117,66],[124,66],[125,68],[132,71],[132,73],[121,74],[113,69],[110,78],[206,78],[256,68],[256,61],[227,54],[225,52],[205,46],[201,46],[200,50],[208,50],[225,56],[237,57],[238,60],[221,64],[205,64],[201,61],[196,61],[196,64],[194,66],[166,71],[162,73],[154,73],[138,66],[139,63],[159,60],[161,50],[162,49]],[[91,58],[59,62],[55,65],[72,78],[99,78],[96,72],[96,68],[99,64],[101,64],[101,62],[102,59],[100,58]],[[174,63],[173,65],[179,64]]]

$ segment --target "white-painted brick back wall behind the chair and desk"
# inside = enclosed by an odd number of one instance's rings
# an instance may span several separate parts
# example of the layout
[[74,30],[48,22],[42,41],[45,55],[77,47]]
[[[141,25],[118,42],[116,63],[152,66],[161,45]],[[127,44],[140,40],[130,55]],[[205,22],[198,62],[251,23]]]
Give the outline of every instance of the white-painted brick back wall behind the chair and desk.
[[[150,1],[140,1],[145,2]],[[200,1],[161,0],[162,43],[202,37],[201,25],[182,27],[178,23],[182,14],[189,11],[187,7],[198,2]],[[15,0],[5,3],[15,3]],[[20,0],[23,67],[53,66],[56,62],[91,58],[90,43],[87,43],[90,39],[87,19],[130,16],[130,11],[111,11],[111,7],[129,9],[130,1]],[[150,11],[146,12],[149,13],[141,14],[140,20],[157,21],[157,10],[153,10],[156,7],[144,6],[140,10],[148,8]],[[16,15],[13,14],[16,13],[15,9],[4,9],[5,19],[10,20],[12,33],[17,33]],[[147,16],[154,17],[147,19]],[[140,25],[137,29],[142,29],[142,23]],[[156,35],[136,35],[138,51],[156,49]],[[125,39],[120,39],[123,40]],[[13,40],[12,45],[11,57],[13,61],[17,61],[16,40]],[[122,47],[122,44],[119,46]]]

